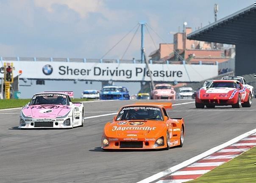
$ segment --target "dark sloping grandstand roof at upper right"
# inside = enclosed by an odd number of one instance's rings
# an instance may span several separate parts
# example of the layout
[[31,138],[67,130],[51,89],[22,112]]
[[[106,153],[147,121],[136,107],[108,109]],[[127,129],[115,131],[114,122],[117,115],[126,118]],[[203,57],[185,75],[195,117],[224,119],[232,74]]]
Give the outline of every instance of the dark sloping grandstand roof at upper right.
[[223,44],[256,44],[256,7],[250,5],[187,36]]

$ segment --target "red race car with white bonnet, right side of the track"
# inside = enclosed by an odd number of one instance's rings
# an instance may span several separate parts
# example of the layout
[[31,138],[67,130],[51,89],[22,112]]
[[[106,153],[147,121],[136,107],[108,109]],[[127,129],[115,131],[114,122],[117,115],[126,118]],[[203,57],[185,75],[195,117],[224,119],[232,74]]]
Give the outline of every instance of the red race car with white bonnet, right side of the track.
[[232,105],[233,108],[250,107],[252,94],[237,80],[214,80],[208,89],[198,90],[195,107],[203,109]]

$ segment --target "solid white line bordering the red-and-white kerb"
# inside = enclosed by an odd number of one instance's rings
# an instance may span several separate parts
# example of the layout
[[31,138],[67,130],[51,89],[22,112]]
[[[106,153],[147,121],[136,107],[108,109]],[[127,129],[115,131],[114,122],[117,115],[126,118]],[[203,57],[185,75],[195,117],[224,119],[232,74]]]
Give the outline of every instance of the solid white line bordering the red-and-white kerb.
[[[164,170],[163,172],[159,172],[159,173],[157,173],[155,175],[150,176],[149,178],[145,178],[144,180],[141,180],[138,183],[150,183],[150,182],[153,182],[153,181],[155,181],[155,180],[157,180],[159,178],[162,178],[163,176],[166,176],[166,175],[168,175],[170,173],[173,173],[173,172],[177,171],[178,169],[181,169],[183,167],[187,167],[188,165],[194,163],[195,161],[198,161],[198,160],[200,160],[200,159],[202,159],[202,158],[204,158],[206,156],[209,156],[212,153],[215,153],[218,150],[221,150],[224,147],[232,145],[232,144],[238,142],[239,140],[244,139],[245,137],[248,137],[249,135],[255,134],[255,133],[256,133],[256,128],[251,130],[251,131],[248,131],[248,132],[246,132],[246,133],[244,133],[242,135],[239,135],[238,137],[235,137],[234,139],[231,139],[228,142],[225,142],[225,143],[223,143],[221,145],[213,147],[210,150],[207,150],[206,152],[199,154],[198,156],[195,156],[195,157],[190,158],[190,159],[188,159],[188,160],[186,160],[186,161],[184,161],[184,162],[182,162],[180,164],[177,164],[177,165],[175,165],[173,167],[170,167],[170,168]],[[252,144],[252,143],[250,143],[250,144]],[[245,144],[242,144],[242,145],[245,145]],[[256,143],[255,143],[255,145],[256,145]]]

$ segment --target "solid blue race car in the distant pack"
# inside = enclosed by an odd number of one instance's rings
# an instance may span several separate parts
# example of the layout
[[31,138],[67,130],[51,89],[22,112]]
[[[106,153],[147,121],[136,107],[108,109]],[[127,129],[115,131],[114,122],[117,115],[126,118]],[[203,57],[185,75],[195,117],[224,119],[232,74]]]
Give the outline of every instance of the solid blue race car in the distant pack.
[[100,91],[101,100],[129,100],[129,92],[126,87],[104,86]]

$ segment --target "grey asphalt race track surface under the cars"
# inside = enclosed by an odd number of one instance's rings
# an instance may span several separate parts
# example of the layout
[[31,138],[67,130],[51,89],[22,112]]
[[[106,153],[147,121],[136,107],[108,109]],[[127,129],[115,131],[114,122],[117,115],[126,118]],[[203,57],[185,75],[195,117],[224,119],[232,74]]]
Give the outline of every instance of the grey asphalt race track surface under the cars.
[[[173,104],[191,102],[177,100]],[[134,101],[84,103],[85,117],[116,112]],[[176,105],[170,117],[184,117],[181,148],[104,152],[102,130],[114,115],[85,120],[73,129],[19,130],[19,109],[0,111],[0,183],[136,183],[256,128],[252,107],[195,109]]]

